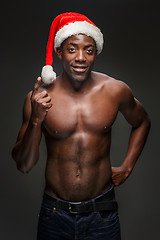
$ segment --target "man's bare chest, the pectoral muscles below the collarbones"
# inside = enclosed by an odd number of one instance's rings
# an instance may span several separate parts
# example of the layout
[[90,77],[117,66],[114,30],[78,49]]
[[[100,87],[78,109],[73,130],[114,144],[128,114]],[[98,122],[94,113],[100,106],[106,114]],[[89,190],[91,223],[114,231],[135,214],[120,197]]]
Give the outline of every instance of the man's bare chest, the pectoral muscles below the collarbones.
[[101,133],[109,131],[118,112],[111,97],[87,95],[72,98],[56,95],[44,126],[49,135],[68,136],[75,132]]

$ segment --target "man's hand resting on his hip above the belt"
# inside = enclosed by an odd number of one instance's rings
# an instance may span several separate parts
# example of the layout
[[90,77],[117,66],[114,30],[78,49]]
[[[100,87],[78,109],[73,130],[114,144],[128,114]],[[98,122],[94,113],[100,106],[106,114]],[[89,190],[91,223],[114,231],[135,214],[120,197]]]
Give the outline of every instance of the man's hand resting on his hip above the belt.
[[130,175],[130,172],[125,167],[112,167],[112,182],[115,186],[119,186],[125,182]]

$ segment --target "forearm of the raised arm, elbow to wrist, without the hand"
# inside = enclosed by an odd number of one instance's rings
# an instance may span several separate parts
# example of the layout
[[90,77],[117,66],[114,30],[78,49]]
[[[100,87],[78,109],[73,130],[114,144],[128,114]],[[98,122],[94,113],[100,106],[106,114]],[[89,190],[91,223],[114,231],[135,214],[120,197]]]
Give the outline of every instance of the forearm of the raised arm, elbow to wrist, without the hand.
[[13,148],[12,156],[17,168],[27,173],[39,158],[39,144],[41,140],[41,124],[34,124],[31,120],[23,138]]

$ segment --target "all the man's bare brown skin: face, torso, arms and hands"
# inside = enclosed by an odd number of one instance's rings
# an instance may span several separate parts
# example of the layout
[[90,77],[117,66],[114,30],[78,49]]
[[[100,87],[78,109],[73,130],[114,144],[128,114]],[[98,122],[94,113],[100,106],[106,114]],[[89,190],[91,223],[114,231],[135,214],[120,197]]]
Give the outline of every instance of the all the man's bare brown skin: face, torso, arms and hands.
[[[51,196],[84,201],[119,186],[143,150],[150,121],[142,104],[123,82],[93,72],[96,46],[75,35],[57,49],[63,73],[49,86],[39,77],[24,103],[23,123],[12,155],[22,172],[39,158],[42,132],[47,146],[46,187]],[[120,111],[131,125],[127,153],[111,167],[111,129]]]

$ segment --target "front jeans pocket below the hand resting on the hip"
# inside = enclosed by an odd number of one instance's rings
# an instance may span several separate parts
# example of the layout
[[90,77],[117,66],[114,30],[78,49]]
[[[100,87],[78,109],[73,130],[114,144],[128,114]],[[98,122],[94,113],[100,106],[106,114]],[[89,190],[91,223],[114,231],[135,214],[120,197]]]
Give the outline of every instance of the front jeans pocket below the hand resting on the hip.
[[98,219],[101,222],[112,223],[119,220],[118,211],[100,211],[97,212]]

